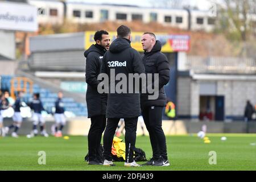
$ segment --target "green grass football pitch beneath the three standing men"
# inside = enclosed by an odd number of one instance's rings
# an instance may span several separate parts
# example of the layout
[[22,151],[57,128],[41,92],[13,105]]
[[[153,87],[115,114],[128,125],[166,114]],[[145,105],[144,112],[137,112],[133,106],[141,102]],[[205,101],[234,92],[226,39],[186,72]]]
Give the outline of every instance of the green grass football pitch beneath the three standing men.
[[[227,140],[222,141],[222,136]],[[84,162],[87,137],[71,136],[68,140],[5,137],[0,138],[0,170],[256,170],[256,134],[208,134],[207,137],[208,144],[196,134],[167,137],[171,166],[139,168],[123,167],[123,162],[115,162],[114,167],[88,165]],[[136,147],[146,152],[147,159],[151,158],[149,137],[137,137]],[[46,152],[46,164],[38,164],[39,151]]]

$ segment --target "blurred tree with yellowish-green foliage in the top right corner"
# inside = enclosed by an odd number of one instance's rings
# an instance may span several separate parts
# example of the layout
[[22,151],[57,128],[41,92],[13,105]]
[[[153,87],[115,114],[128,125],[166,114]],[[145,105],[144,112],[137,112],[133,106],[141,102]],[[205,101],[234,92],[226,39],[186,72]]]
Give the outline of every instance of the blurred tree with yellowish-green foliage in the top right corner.
[[241,56],[248,56],[251,46],[247,42],[255,38],[256,0],[210,1],[218,5],[217,30],[224,32],[230,40],[242,43]]

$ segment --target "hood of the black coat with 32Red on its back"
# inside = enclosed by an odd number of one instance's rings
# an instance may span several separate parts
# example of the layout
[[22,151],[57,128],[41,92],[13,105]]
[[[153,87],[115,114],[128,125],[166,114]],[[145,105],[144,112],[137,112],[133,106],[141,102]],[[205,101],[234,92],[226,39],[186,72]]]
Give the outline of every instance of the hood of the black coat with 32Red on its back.
[[125,38],[117,38],[112,44],[110,44],[109,51],[112,53],[118,53],[130,47],[130,40]]

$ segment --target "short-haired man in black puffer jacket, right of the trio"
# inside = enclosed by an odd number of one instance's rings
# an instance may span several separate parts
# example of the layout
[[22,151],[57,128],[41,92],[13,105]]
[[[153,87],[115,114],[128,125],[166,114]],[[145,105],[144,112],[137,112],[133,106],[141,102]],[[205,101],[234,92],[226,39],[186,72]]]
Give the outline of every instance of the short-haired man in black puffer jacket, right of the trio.
[[142,116],[150,135],[153,151],[153,157],[144,165],[170,166],[167,158],[166,137],[162,129],[162,113],[166,106],[166,93],[163,86],[169,82],[170,68],[167,57],[160,52],[161,43],[156,40],[153,33],[143,34],[142,47],[144,50],[142,61],[146,74],[159,74],[158,98],[150,100],[148,92],[141,94]]

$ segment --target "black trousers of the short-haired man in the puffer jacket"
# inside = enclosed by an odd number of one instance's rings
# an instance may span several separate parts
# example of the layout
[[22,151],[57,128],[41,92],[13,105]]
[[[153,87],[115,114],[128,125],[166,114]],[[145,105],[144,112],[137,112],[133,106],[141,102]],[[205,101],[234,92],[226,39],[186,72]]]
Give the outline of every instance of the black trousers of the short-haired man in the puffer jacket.
[[162,111],[163,107],[149,106],[142,108],[144,123],[150,135],[150,143],[153,152],[153,158],[159,159],[162,156],[167,160],[166,136],[162,129]]

